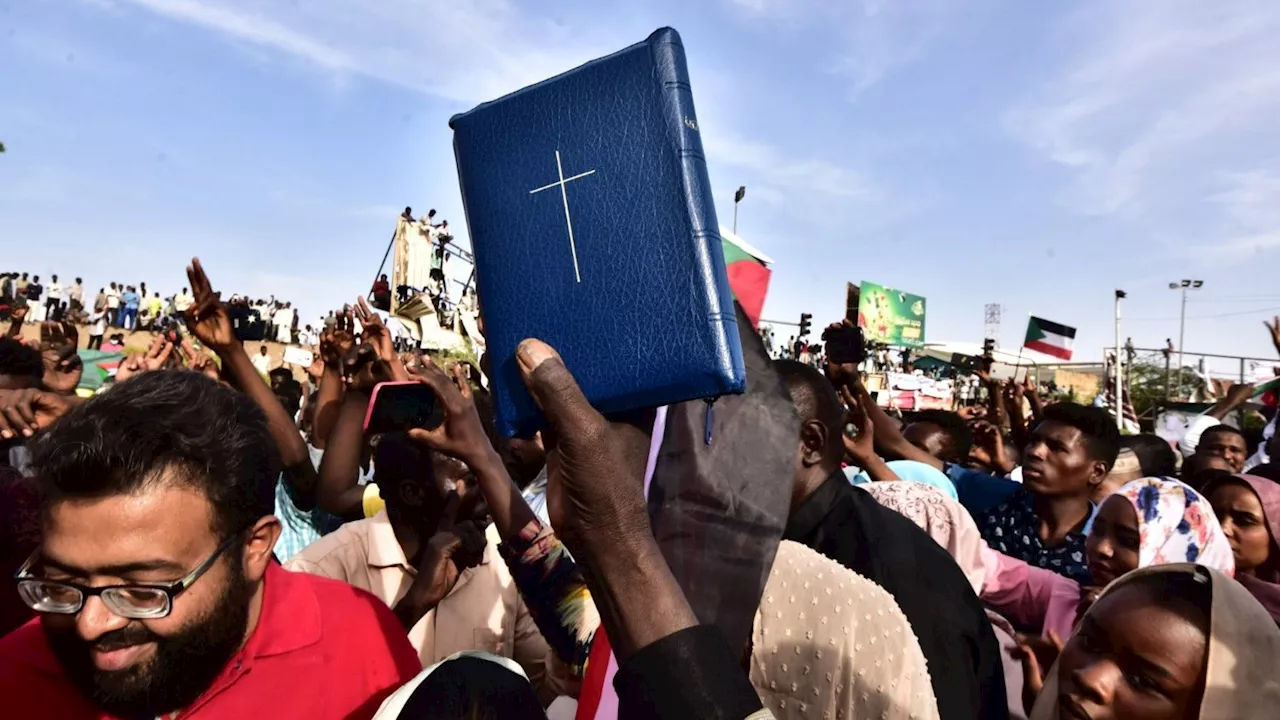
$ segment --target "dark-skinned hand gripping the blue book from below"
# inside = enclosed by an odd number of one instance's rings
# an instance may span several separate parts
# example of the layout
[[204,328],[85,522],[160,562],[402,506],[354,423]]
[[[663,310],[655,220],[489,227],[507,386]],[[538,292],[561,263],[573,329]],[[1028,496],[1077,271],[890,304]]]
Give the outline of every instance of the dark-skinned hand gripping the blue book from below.
[[539,340],[516,351],[521,378],[550,423],[547,510],[575,557],[608,562],[620,542],[653,542],[644,498],[653,414],[607,420],[582,395],[558,352]]

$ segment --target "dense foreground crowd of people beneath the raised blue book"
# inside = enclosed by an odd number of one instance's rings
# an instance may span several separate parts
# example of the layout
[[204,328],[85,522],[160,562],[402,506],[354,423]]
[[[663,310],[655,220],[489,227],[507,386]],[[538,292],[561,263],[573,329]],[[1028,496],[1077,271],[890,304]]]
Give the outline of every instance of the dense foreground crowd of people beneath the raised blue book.
[[[771,359],[744,328],[746,396],[605,418],[538,340],[445,366],[398,352],[358,300],[323,327],[315,389],[293,404],[255,368],[237,304],[198,260],[187,273],[186,334],[92,398],[72,392],[65,325],[23,343],[10,318],[0,338],[14,717],[1280,703],[1280,441],[1249,447],[1220,421],[1240,393],[1178,447],[986,373],[983,406],[899,420],[856,365]],[[494,430],[499,364],[545,415],[532,438]],[[439,424],[367,433],[384,382],[429,389]],[[739,484],[707,520],[722,488],[699,482],[724,475]]]

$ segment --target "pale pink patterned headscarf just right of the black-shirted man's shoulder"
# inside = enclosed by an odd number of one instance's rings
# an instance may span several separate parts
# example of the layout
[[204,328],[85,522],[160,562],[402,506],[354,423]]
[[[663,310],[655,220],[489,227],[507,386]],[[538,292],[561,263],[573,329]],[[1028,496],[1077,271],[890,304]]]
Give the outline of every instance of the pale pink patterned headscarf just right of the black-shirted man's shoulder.
[[867,483],[855,486],[867,491],[884,507],[905,515],[955,559],[973,585],[973,592],[982,593],[987,578],[987,565],[982,560],[982,539],[978,525],[969,511],[959,502],[933,486],[906,480],[890,483]]

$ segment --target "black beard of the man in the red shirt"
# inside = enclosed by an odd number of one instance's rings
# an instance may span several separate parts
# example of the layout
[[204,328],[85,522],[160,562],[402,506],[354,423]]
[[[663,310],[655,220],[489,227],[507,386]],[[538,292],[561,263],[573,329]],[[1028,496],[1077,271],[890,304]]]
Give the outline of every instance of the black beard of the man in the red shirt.
[[[239,650],[248,628],[253,588],[238,562],[218,602],[169,635],[154,633],[138,620],[95,642],[84,642],[74,629],[44,624],[50,648],[67,678],[99,708],[120,717],[159,717],[195,702],[214,683]],[[156,643],[148,660],[124,670],[99,670],[92,651],[120,650]]]

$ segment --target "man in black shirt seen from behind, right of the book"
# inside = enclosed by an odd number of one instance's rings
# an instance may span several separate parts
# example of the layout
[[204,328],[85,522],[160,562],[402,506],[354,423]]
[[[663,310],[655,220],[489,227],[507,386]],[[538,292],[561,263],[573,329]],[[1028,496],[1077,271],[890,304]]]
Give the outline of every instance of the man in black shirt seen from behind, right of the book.
[[804,543],[884,588],[911,623],[929,664],[943,720],[1005,719],[1000,646],[973,585],[951,555],[914,523],[849,484],[844,407],[822,374],[774,363],[800,414],[791,519],[785,539]]

